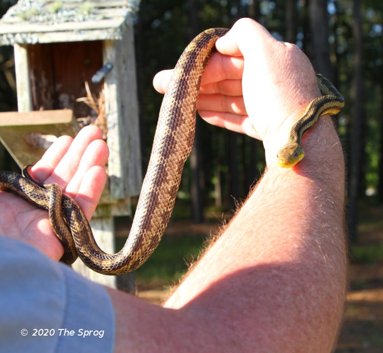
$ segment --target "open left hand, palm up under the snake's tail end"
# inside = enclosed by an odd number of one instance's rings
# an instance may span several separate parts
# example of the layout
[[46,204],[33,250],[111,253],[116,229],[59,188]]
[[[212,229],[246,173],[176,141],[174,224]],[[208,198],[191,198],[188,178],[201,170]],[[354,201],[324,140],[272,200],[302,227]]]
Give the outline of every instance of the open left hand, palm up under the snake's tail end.
[[[75,139],[62,136],[46,150],[30,170],[31,177],[44,184],[57,183],[74,198],[91,218],[106,182],[105,163],[109,150],[98,127],[87,126]],[[52,259],[64,253],[53,233],[48,212],[22,198],[0,192],[0,234],[27,242]]]

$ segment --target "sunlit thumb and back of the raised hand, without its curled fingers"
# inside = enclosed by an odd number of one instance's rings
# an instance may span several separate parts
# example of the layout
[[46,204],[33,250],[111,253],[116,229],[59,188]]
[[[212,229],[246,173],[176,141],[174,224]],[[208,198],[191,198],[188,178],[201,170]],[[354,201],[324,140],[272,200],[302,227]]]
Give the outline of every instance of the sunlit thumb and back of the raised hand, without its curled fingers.
[[216,47],[225,55],[243,55],[246,111],[272,155],[320,95],[311,63],[298,47],[276,40],[250,18],[238,20]]

